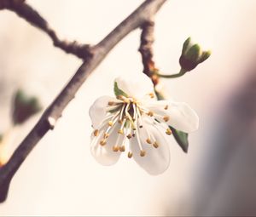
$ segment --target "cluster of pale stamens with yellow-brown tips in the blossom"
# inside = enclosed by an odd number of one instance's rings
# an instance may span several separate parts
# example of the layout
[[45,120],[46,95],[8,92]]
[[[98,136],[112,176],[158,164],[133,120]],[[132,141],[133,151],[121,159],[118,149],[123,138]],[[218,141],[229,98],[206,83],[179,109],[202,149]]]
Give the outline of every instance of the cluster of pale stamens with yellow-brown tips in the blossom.
[[[149,96],[152,98],[151,94],[149,94]],[[144,144],[146,142],[149,146],[153,146],[154,148],[158,148],[160,144],[155,139],[154,134],[150,134],[148,128],[144,127],[147,126],[147,124],[143,124],[143,116],[148,115],[153,124],[167,122],[169,117],[162,117],[158,114],[154,114],[153,111],[149,111],[142,105],[142,103],[131,97],[119,95],[117,99],[119,102],[108,102],[108,115],[102,121],[101,126],[94,131],[94,136],[101,136],[101,140],[99,141],[100,146],[108,146],[109,135],[116,134],[117,139],[115,144],[112,144],[112,150],[123,152],[128,144],[127,156],[129,158],[132,157],[133,153],[131,152],[130,143],[128,141],[134,138],[137,140],[140,156],[144,157],[146,156],[146,151],[143,149],[142,143]],[[168,106],[164,107],[164,109],[167,108]],[[102,128],[105,128],[105,130],[102,130]],[[144,130],[144,134],[147,135],[145,141],[140,137],[140,134],[142,133],[141,130]],[[168,126],[166,134],[172,134],[172,131]]]

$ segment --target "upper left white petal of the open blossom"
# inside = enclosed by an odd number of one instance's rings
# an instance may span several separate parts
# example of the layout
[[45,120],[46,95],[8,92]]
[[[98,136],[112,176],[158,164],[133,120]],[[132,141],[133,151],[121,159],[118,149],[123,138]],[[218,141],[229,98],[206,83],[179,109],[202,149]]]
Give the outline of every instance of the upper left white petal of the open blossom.
[[93,128],[98,128],[99,125],[102,123],[102,120],[104,119],[104,117],[106,117],[107,106],[109,101],[115,102],[118,100],[116,100],[111,96],[104,95],[98,98],[97,100],[95,100],[92,106],[90,106],[89,115],[90,115],[90,120]]

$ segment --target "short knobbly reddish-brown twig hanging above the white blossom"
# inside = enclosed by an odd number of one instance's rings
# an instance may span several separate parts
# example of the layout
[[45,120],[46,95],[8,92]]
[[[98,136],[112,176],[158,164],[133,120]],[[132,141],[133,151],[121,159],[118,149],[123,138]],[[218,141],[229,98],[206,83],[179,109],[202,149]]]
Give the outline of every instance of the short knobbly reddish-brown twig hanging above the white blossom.
[[154,20],[148,20],[142,26],[142,34],[141,34],[141,45],[139,48],[139,52],[142,54],[143,60],[143,72],[151,77],[152,82],[156,85],[159,82],[159,77],[154,76],[154,71],[157,69],[154,66],[153,60],[153,43],[154,43]]

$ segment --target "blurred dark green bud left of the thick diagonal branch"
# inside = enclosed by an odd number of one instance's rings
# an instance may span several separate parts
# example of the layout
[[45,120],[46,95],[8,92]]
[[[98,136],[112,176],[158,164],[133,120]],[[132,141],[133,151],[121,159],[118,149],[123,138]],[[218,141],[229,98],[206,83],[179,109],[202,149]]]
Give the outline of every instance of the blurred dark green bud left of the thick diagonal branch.
[[29,117],[42,109],[34,96],[27,96],[23,90],[18,89],[14,94],[12,120],[14,124],[24,123]]

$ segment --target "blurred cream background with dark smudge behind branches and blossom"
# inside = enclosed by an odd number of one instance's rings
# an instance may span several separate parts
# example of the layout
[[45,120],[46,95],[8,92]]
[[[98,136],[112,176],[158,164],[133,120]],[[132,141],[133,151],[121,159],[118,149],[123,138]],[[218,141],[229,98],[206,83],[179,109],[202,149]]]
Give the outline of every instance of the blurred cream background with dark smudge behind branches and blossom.
[[[61,38],[99,42],[143,1],[27,0]],[[113,79],[143,71],[140,31],[119,43],[79,89],[11,183],[0,215],[255,215],[256,1],[170,0],[156,15],[154,60],[166,74],[179,70],[191,36],[212,56],[194,71],[162,80],[166,93],[200,117],[189,153],[173,140],[164,174],[150,176],[127,157],[103,167],[90,155],[88,110],[113,94]],[[43,32],[0,11],[0,132],[10,127],[12,95],[37,95],[44,108],[81,60],[53,47]],[[10,131],[9,155],[41,113]],[[4,149],[4,151],[3,151]],[[0,153],[1,154],[1,153]]]

